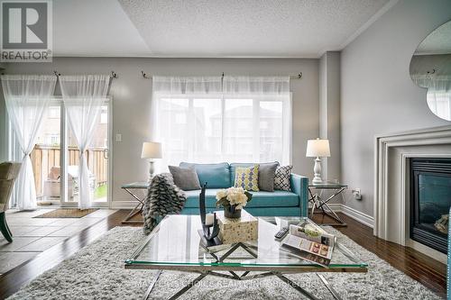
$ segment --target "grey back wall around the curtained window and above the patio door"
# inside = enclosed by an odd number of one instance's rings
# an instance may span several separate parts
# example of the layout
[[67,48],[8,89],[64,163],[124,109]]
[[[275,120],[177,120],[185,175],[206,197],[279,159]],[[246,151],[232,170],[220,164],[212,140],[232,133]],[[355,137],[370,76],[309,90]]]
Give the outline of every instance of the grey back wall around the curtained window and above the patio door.
[[[150,136],[152,80],[149,74],[196,75],[296,75],[291,81],[293,93],[293,165],[303,175],[312,172],[312,161],[305,157],[308,139],[318,136],[318,59],[114,59],[54,58],[52,63],[15,63],[6,65],[6,73],[64,75],[109,73],[118,78],[111,86],[113,95],[113,133],[122,133],[123,141],[113,146],[113,199],[117,205],[130,199],[121,190],[124,183],[147,178],[148,164],[140,158],[143,141]],[[2,105],[0,105],[0,110]],[[0,112],[1,113],[1,112]],[[2,114],[0,114],[0,118]],[[1,128],[0,128],[1,129]]]

